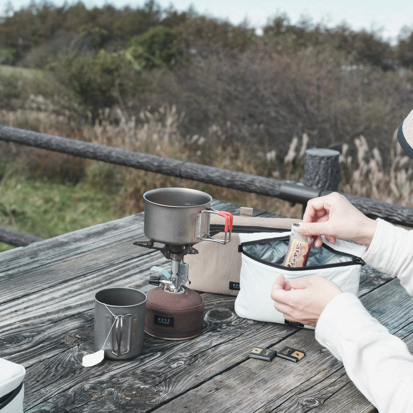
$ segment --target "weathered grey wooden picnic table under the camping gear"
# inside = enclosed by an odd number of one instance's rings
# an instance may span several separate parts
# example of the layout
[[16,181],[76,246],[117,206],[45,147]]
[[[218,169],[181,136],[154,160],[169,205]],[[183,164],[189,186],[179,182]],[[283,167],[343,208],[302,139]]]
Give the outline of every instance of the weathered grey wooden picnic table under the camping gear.
[[[0,254],[0,356],[26,368],[26,413],[376,411],[313,330],[239,318],[235,297],[219,294],[202,293],[199,337],[146,336],[135,359],[82,367],[93,352],[93,294],[108,286],[147,291],[150,267],[168,265],[159,251],[132,245],[142,239],[143,213]],[[398,280],[364,266],[359,296],[412,347],[411,297]],[[299,363],[248,358],[258,345],[288,345],[306,356]]]

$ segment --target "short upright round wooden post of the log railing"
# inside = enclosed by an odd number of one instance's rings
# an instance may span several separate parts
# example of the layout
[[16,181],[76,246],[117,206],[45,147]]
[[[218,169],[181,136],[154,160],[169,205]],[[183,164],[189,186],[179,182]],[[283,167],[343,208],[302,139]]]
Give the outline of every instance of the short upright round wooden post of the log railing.
[[[333,149],[307,149],[304,161],[304,185],[320,190],[337,191],[339,154]],[[303,204],[303,215],[306,206]]]

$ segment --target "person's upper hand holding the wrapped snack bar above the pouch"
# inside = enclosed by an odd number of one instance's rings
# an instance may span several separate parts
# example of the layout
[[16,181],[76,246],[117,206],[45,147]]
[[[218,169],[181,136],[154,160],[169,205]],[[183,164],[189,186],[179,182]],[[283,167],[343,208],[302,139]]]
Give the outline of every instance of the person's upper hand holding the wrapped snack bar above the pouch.
[[332,244],[340,238],[368,247],[376,227],[377,222],[362,214],[346,197],[332,192],[309,200],[298,230],[305,235],[317,235],[316,247],[323,243],[320,235],[325,235]]

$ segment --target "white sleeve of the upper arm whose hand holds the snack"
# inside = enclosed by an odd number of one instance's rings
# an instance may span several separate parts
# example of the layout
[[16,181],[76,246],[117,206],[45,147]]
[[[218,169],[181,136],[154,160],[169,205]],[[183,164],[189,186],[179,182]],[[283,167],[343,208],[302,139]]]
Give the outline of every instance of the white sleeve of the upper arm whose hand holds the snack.
[[382,273],[397,277],[413,295],[413,230],[396,227],[381,219],[362,259]]

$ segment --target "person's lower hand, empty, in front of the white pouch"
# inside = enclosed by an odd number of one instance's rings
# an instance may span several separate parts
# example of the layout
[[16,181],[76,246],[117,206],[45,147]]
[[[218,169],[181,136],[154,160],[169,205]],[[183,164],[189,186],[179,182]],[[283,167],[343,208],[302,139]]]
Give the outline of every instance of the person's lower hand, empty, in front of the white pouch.
[[275,301],[275,309],[286,320],[316,327],[325,306],[341,293],[337,284],[320,275],[291,281],[285,281],[284,275],[279,275],[274,282],[271,298]]

